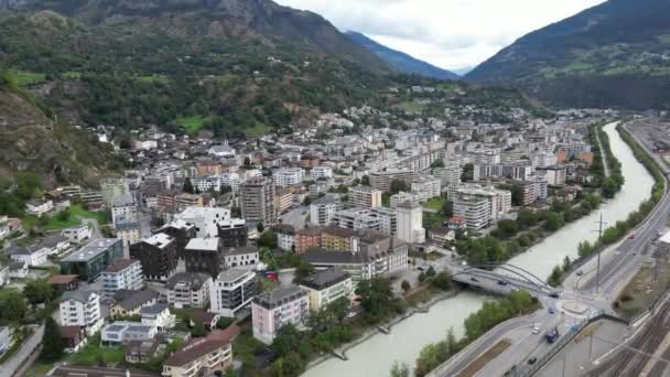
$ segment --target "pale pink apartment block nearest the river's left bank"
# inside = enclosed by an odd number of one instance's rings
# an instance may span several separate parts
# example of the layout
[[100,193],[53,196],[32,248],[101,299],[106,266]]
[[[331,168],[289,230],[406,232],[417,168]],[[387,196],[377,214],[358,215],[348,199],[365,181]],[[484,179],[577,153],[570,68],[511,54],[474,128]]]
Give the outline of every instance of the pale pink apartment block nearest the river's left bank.
[[253,337],[271,344],[279,328],[289,323],[301,325],[309,312],[309,293],[300,287],[282,287],[259,294],[251,301]]

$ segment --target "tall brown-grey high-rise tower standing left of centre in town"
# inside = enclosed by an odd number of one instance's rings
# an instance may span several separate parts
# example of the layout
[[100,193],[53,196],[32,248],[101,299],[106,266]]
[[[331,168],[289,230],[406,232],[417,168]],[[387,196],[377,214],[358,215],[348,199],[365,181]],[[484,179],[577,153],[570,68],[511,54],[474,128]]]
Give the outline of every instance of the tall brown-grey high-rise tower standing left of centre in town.
[[240,207],[247,220],[274,224],[277,211],[272,181],[264,177],[247,180],[240,188]]

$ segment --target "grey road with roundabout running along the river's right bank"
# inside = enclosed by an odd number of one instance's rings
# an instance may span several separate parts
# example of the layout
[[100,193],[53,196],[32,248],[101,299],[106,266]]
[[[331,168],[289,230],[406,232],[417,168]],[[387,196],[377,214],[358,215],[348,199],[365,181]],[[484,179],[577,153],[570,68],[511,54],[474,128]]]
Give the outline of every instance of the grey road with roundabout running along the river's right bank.
[[[651,154],[648,149],[647,152]],[[655,158],[659,159],[656,155]],[[663,166],[666,174],[670,173],[664,164],[661,164],[661,166]],[[549,349],[548,345],[538,344],[530,335],[519,337],[519,332],[526,331],[522,327],[528,325],[528,321],[534,322],[542,328],[558,326],[566,330],[577,321],[583,321],[599,312],[612,312],[610,304],[616,300],[617,293],[635,276],[640,265],[649,258],[646,250],[658,238],[659,230],[666,227],[669,214],[670,195],[666,193],[646,220],[631,231],[633,237],[626,238],[602,252],[597,291],[595,273],[597,260],[592,258],[581,267],[579,272],[573,271],[566,277],[561,299],[552,301],[551,298],[540,297],[544,308],[560,306],[561,310],[558,315],[538,315],[533,320],[515,319],[507,321],[452,357],[436,369],[434,376],[456,375],[489,347],[504,338],[508,338],[512,341],[512,345],[477,374],[477,376],[500,375],[512,366],[525,365],[525,362],[531,356],[540,358]],[[565,308],[577,310],[563,311]],[[564,331],[561,333],[564,334]],[[670,351],[668,353],[670,354]]]

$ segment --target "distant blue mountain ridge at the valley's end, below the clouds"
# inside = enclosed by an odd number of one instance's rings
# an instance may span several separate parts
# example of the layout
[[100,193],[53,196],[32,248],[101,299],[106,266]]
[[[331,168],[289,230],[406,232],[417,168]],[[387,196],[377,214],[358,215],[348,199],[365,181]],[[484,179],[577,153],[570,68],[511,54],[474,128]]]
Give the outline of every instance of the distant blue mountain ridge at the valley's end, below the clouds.
[[352,41],[360,44],[367,50],[375,53],[382,61],[388,63],[391,67],[407,73],[407,74],[415,74],[425,77],[439,78],[439,79],[458,79],[460,76],[449,72],[446,69],[442,69],[426,62],[414,58],[403,52],[389,49],[378,42],[370,40],[361,33],[349,31],[346,33]]

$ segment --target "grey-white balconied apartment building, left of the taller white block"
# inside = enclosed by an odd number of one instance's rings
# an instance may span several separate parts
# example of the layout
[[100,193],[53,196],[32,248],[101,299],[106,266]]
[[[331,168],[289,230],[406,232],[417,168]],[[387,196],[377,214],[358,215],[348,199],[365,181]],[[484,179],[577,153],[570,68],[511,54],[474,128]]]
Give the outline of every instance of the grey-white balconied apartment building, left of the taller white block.
[[168,303],[175,308],[207,308],[212,277],[202,272],[180,272],[168,280]]

